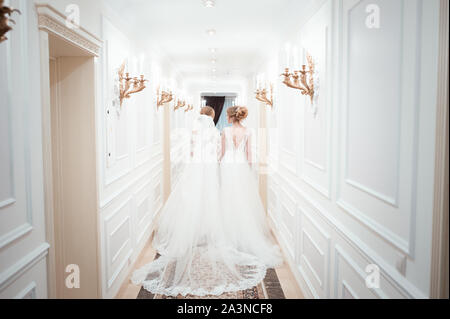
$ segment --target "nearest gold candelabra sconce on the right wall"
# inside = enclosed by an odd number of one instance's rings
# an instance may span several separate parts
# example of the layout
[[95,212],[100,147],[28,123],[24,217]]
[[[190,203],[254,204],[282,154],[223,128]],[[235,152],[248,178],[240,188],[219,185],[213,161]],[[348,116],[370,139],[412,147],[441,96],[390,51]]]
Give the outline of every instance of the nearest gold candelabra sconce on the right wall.
[[316,66],[310,55],[307,56],[307,60],[309,70],[306,70],[306,65],[303,65],[300,71],[294,71],[294,73],[290,73],[289,68],[286,68],[281,76],[284,77],[283,83],[286,86],[300,90],[302,95],[309,96],[311,103],[314,103],[314,73]]

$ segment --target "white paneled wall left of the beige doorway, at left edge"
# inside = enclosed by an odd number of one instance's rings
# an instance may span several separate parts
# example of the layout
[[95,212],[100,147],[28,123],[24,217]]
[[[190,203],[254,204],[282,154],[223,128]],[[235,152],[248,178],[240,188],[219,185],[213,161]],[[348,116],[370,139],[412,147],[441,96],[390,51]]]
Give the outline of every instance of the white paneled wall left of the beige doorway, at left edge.
[[[47,296],[39,65],[33,3],[0,44],[0,298]],[[30,39],[34,39],[31,40]]]

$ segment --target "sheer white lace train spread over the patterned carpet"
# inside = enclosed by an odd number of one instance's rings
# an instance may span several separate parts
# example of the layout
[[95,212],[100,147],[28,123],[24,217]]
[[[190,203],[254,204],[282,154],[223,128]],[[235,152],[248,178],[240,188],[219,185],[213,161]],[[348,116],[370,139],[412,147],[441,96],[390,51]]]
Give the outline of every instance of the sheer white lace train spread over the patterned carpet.
[[219,296],[258,285],[266,266],[255,257],[236,251],[226,256],[197,248],[192,257],[161,256],[134,272],[132,282],[153,294],[167,296]]

